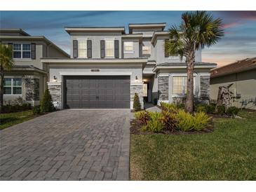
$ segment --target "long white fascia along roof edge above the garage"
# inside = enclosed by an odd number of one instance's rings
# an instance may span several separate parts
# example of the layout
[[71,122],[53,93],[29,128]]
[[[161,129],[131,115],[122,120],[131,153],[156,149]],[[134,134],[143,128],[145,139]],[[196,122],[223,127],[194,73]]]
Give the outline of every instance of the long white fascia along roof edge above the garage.
[[45,63],[146,63],[147,59],[135,59],[135,60],[116,60],[116,59],[109,59],[109,60],[56,60],[56,59],[41,59],[41,62]]

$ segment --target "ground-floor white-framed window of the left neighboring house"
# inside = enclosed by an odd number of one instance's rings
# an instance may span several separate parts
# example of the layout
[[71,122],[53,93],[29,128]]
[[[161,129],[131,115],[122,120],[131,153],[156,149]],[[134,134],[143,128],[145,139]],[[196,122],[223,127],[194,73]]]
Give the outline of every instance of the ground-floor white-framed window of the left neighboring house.
[[4,78],[4,95],[22,95],[22,78]]

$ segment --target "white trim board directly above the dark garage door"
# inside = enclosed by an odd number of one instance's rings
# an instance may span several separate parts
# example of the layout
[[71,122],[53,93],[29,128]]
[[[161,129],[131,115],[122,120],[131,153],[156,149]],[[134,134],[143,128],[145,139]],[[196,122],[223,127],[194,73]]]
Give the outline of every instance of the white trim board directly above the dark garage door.
[[130,76],[132,71],[127,72],[80,72],[80,71],[60,71],[61,76]]

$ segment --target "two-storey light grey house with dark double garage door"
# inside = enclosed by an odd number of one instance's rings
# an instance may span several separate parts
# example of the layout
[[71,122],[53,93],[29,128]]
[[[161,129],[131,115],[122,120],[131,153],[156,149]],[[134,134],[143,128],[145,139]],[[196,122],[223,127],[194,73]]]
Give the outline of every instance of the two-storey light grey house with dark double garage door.
[[[42,58],[49,71],[48,88],[55,106],[67,108],[133,108],[135,92],[144,102],[184,100],[187,66],[167,55],[166,23],[125,27],[65,27],[70,35],[70,58]],[[210,69],[196,52],[194,94],[209,102]]]

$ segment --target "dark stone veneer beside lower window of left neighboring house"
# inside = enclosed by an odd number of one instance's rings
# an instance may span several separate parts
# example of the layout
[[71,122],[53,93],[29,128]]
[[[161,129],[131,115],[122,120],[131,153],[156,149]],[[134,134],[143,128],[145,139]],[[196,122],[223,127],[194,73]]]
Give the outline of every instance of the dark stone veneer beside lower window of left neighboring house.
[[39,101],[39,78],[25,77],[23,78],[25,82],[25,100],[28,102]]

